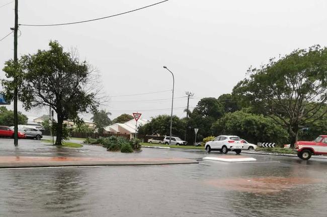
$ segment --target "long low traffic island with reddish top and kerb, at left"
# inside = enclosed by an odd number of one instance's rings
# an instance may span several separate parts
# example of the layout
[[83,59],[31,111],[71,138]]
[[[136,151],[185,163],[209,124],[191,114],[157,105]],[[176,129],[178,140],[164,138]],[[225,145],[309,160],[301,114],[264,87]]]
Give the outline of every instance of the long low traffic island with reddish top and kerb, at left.
[[163,164],[190,164],[197,160],[187,158],[97,158],[97,157],[32,157],[0,156],[0,168],[53,166],[137,166]]

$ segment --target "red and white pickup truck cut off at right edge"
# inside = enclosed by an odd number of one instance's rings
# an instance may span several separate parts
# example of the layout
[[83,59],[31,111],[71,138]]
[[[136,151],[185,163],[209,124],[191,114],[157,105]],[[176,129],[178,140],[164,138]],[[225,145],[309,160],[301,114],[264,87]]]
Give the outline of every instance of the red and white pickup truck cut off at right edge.
[[297,156],[303,160],[310,159],[312,154],[327,154],[327,135],[318,136],[313,141],[297,141],[295,149]]

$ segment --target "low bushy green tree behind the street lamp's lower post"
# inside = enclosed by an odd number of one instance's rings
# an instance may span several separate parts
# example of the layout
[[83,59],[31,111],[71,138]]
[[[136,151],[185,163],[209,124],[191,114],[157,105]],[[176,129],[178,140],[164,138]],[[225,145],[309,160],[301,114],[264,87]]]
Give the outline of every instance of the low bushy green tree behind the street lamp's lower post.
[[[138,128],[139,135],[170,135],[171,116],[158,115],[152,118],[149,123],[146,123]],[[179,117],[173,116],[172,135],[182,138],[184,135],[185,123]]]

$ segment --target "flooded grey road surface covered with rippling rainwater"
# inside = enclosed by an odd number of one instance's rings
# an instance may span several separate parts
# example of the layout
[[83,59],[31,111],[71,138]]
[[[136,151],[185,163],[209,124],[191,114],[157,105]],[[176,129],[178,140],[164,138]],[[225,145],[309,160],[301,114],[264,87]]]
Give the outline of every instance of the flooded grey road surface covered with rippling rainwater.
[[[107,152],[101,146],[57,148],[0,139],[2,156],[176,157],[220,153],[143,148]],[[10,140],[10,139],[8,139]],[[20,140],[21,141],[21,140]],[[234,153],[228,153],[228,156]],[[254,162],[0,170],[0,216],[326,216],[327,161],[241,154]]]

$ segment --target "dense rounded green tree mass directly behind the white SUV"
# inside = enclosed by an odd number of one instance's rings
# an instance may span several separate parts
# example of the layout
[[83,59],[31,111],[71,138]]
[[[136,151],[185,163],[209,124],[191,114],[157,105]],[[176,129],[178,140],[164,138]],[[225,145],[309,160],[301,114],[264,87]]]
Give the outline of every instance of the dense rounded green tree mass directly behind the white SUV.
[[257,142],[285,144],[288,139],[287,131],[273,119],[244,111],[226,113],[212,124],[211,129],[215,135],[237,135],[254,144]]

